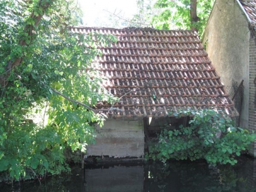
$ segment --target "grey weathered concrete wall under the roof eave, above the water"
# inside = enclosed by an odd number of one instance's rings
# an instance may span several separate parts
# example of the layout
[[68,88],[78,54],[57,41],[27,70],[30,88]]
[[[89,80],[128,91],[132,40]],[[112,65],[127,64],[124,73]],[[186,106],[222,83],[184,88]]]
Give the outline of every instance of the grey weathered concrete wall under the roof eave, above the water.
[[88,146],[88,156],[143,157],[144,127],[141,120],[107,119],[97,127],[96,144]]

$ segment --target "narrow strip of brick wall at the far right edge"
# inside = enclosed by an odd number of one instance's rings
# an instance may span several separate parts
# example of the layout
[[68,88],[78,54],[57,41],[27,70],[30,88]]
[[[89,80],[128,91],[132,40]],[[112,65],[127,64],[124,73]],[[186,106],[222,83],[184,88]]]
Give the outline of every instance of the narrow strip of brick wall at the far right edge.
[[[249,49],[249,125],[250,132],[256,131],[256,42],[250,40]],[[256,140],[251,144],[250,154],[256,157]]]

